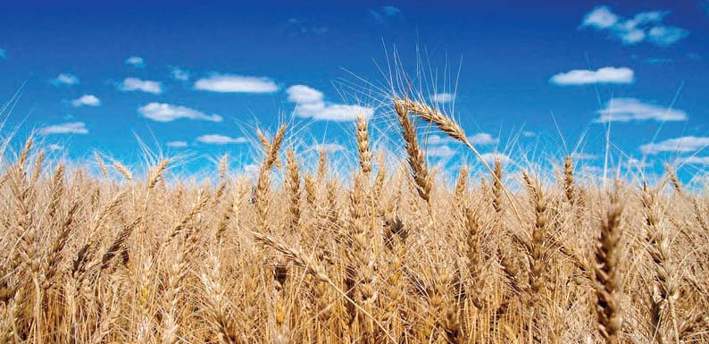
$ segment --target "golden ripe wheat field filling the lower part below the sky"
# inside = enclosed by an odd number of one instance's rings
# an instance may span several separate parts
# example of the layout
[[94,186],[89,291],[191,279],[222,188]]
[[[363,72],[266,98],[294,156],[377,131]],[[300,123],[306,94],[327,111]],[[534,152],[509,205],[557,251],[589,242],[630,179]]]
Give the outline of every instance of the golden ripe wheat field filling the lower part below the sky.
[[225,156],[204,183],[168,180],[170,159],[49,168],[29,138],[0,180],[1,342],[709,340],[709,199],[671,169],[604,187],[571,156],[551,182],[480,159],[446,183],[420,125],[480,156],[463,129],[392,109],[400,160],[361,117],[357,168],[338,175],[324,152],[306,168],[286,125],[259,131],[255,178]]

